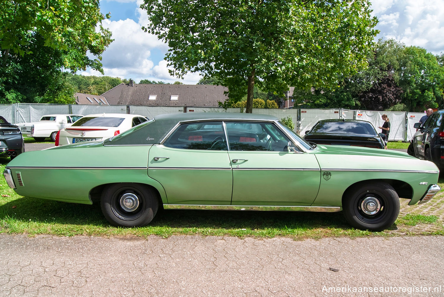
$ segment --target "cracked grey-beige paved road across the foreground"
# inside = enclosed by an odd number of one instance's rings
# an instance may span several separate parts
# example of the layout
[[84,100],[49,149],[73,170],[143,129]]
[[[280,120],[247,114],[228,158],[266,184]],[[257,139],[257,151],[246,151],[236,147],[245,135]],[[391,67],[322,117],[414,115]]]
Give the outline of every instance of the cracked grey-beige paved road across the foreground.
[[0,296],[444,296],[444,237],[0,234],[0,251]]

